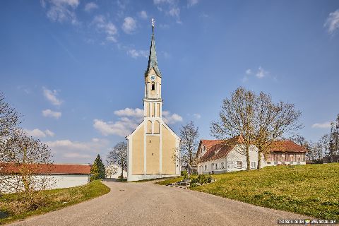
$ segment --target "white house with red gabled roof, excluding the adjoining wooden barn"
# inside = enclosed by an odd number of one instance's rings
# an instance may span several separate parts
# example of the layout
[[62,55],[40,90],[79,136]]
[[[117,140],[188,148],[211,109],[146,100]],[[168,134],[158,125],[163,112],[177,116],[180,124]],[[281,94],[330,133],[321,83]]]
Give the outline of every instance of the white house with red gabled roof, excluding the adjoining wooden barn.
[[[230,142],[229,142],[230,143]],[[247,162],[244,148],[221,140],[201,140],[196,153],[198,158],[198,174],[220,174],[246,170]],[[251,169],[258,166],[258,148],[251,145],[249,150]],[[264,166],[263,155],[261,167]]]

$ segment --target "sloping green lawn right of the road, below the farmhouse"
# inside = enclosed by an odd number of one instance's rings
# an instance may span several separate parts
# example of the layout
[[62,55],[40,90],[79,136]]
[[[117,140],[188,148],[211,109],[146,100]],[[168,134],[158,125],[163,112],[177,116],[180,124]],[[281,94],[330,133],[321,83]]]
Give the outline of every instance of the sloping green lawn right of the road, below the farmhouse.
[[[339,220],[339,163],[265,167],[214,174],[213,178],[216,182],[192,190],[314,218]],[[175,181],[161,184],[172,182]]]

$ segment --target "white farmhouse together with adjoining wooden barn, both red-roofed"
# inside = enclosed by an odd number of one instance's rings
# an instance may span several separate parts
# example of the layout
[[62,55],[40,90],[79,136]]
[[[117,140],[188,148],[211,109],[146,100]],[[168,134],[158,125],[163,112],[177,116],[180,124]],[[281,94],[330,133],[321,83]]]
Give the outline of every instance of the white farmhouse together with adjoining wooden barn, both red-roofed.
[[[264,160],[261,155],[261,167],[269,165],[304,165],[307,150],[292,141],[276,141],[270,154]],[[196,157],[198,174],[234,172],[246,169],[246,155],[242,145],[236,144],[234,138],[227,141],[201,140]],[[251,145],[249,151],[251,169],[258,166],[258,148]]]

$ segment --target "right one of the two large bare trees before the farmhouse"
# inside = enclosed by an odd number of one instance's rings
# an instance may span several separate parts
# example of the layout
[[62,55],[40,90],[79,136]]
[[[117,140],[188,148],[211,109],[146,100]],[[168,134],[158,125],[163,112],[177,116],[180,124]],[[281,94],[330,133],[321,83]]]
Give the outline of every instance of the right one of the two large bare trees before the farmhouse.
[[258,148],[258,169],[261,168],[261,155],[267,156],[274,141],[301,128],[301,112],[295,105],[280,101],[273,103],[270,95],[261,92],[256,97],[254,145]]

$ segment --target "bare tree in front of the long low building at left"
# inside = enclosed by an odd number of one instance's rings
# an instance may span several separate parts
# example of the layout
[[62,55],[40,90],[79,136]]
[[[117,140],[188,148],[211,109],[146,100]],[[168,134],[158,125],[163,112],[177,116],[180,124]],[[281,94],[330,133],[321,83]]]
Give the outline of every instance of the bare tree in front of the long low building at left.
[[[0,184],[3,189],[22,192],[25,203],[36,201],[35,191],[44,190],[54,184],[48,177],[52,170],[52,154],[47,145],[17,129],[3,147]],[[39,175],[43,171],[44,175]]]

